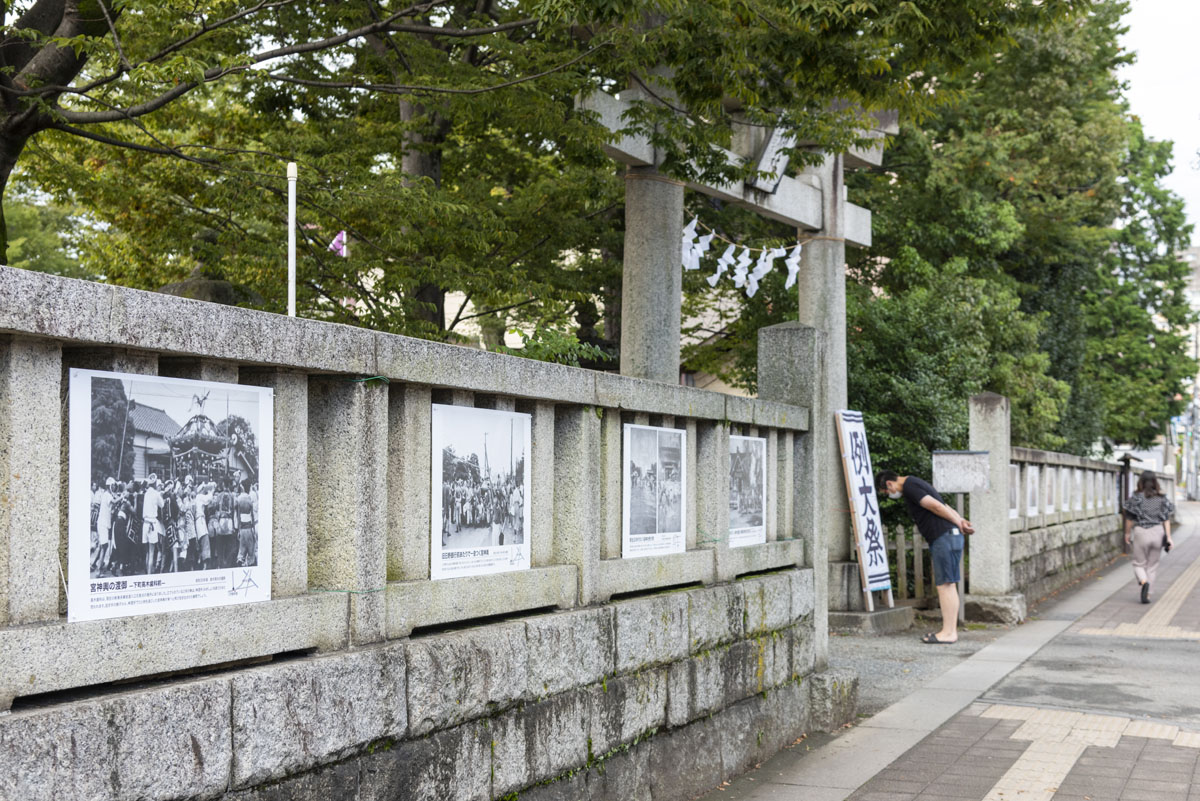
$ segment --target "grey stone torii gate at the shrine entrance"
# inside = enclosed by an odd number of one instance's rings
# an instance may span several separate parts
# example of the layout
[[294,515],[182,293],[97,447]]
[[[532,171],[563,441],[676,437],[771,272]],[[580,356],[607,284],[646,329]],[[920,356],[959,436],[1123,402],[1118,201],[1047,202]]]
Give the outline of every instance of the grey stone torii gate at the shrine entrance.
[[[594,92],[578,103],[594,112],[612,132],[625,127],[624,114],[635,102],[653,102],[640,89],[628,89],[618,96]],[[882,138],[896,133],[895,113],[872,115],[876,126],[870,135],[880,144],[868,150],[827,153],[822,164],[805,168],[798,177],[784,175],[778,182],[750,180],[712,185],[680,182],[658,171],[662,155],[648,137],[624,134],[605,146],[607,155],[625,164],[625,247],[622,283],[620,372],[623,375],[676,384],[679,381],[679,341],[682,326],[682,245],[684,189],[720,198],[792,225],[798,239],[811,237],[800,253],[800,271],[796,291],[799,296],[798,323],[773,326],[760,332],[773,356],[768,362],[780,368],[760,369],[758,395],[811,409],[812,448],[809,464],[817,475],[808,496],[809,519],[815,531],[812,567],[817,594],[829,592],[829,609],[860,612],[865,608],[859,586],[858,565],[851,561],[853,538],[848,514],[839,512],[845,494],[836,489],[841,475],[838,435],[833,412],[845,409],[846,395],[846,245],[870,247],[871,212],[848,203],[844,183],[847,168],[877,167],[883,159]],[[786,159],[778,157],[782,146],[779,131],[744,126],[734,135],[733,151],[726,158],[734,164],[746,162],[764,165],[781,175]],[[808,353],[805,329],[817,332],[823,351],[816,360],[816,374],[778,360],[779,355]],[[760,365],[763,365],[760,348]],[[828,572],[827,572],[828,570]],[[820,586],[828,576],[829,584]],[[893,610],[884,610],[892,613]],[[911,610],[895,610],[911,615]],[[818,621],[823,636],[824,621]],[[902,625],[902,622],[900,624]]]

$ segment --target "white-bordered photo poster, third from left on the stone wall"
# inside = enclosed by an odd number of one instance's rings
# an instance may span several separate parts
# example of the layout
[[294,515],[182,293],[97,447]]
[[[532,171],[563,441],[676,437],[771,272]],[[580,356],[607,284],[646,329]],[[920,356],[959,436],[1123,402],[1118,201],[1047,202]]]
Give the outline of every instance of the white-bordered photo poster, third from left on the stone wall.
[[624,430],[622,555],[683,553],[688,433],[632,423]]

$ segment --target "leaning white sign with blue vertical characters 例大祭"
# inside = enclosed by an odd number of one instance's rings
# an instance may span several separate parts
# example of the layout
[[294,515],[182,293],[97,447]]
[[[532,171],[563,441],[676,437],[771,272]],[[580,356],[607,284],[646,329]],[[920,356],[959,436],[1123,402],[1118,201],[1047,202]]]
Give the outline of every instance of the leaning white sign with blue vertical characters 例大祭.
[[875,494],[875,474],[871,472],[871,454],[866,448],[866,429],[863,412],[839,411],[838,441],[841,445],[841,462],[846,476],[846,493],[850,498],[851,520],[858,543],[858,564],[863,574],[864,591],[890,590],[888,550],[880,520],[880,501]]

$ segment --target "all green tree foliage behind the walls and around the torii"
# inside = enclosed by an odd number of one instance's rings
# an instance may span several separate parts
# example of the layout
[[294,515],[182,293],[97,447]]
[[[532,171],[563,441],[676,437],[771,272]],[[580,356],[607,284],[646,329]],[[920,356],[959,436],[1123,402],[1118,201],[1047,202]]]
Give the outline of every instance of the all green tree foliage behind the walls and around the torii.
[[[295,161],[301,314],[448,341],[479,320],[488,347],[516,329],[510,353],[595,363],[619,338],[623,181],[581,95],[640,98],[625,131],[706,182],[754,169],[724,152],[748,128],[805,143],[796,170],[899,109],[882,169],[847,180],[875,239],[848,254],[850,402],[881,463],[925,472],[931,448],[965,445],[980,390],[1012,399],[1019,444],[1144,444],[1195,369],[1186,270],[1164,255],[1188,234],[1160,186],[1170,149],[1127,119],[1116,78],[1123,2],[448,0],[388,20],[366,0],[127,0],[116,36],[98,6],[42,2],[55,32],[4,32],[32,94],[0,110],[0,183],[16,169],[53,204],[30,228],[10,199],[10,260],[66,253],[156,288],[214,229],[205,272],[282,311]],[[71,58],[26,58],[52,46]],[[731,241],[796,241],[688,205]],[[54,243],[72,223],[47,209],[96,224]],[[757,330],[794,319],[796,291],[779,273],[752,300],[700,273],[684,290],[688,367],[752,391]]]

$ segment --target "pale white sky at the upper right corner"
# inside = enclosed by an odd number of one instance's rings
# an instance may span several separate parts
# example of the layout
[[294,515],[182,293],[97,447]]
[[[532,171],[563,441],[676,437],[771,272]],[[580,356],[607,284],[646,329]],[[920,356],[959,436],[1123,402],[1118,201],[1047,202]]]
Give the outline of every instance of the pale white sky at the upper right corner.
[[1129,110],[1146,135],[1175,143],[1175,171],[1164,182],[1187,203],[1192,243],[1200,245],[1200,1],[1132,0],[1124,24],[1121,43],[1138,54],[1121,72]]

